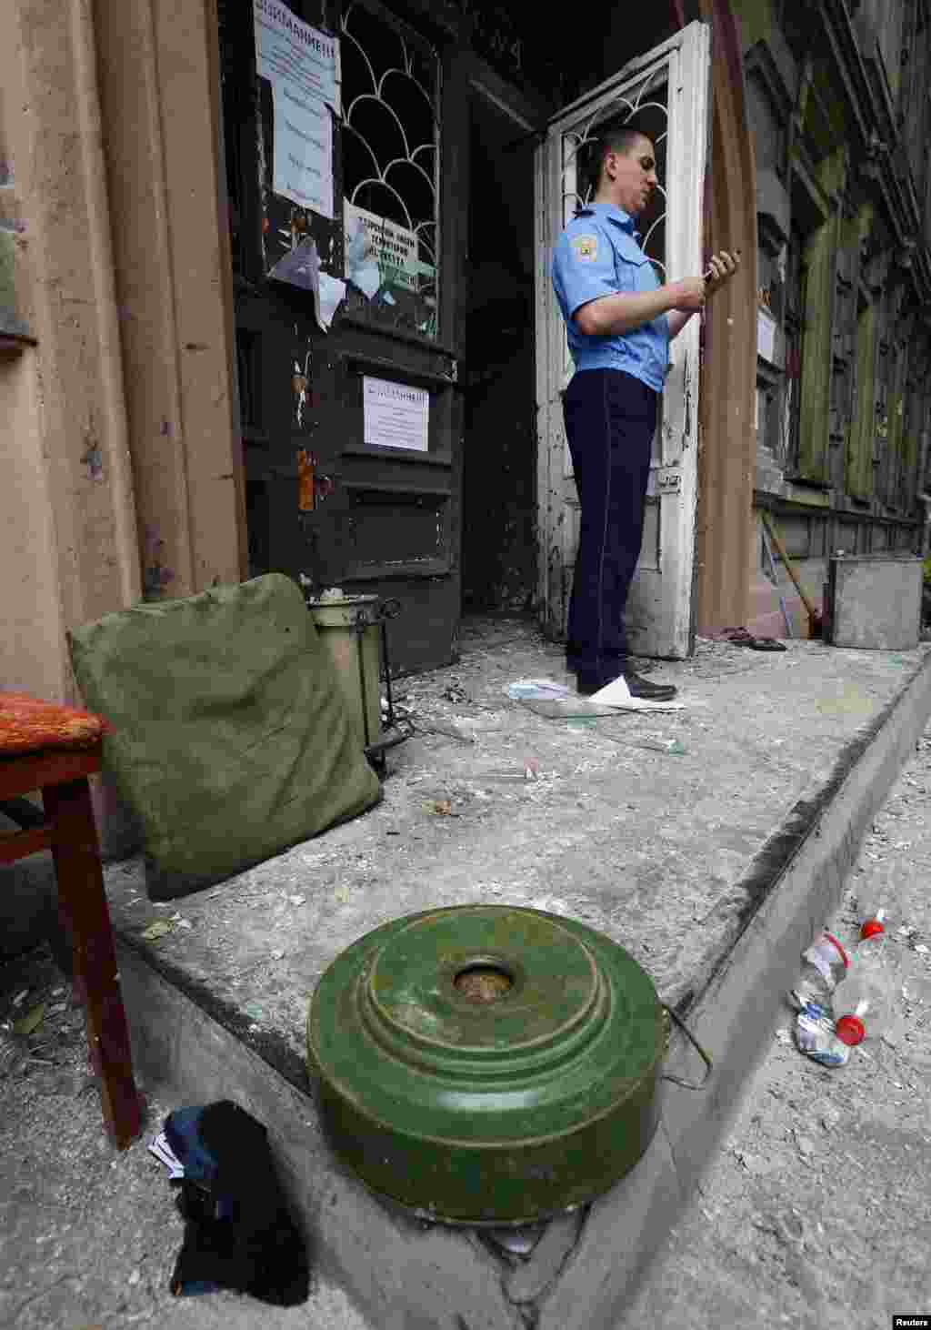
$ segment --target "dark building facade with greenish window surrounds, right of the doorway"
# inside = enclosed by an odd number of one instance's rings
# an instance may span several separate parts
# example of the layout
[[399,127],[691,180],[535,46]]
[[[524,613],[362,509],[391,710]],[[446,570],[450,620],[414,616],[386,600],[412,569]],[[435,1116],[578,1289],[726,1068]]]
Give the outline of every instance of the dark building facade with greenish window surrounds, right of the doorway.
[[[931,132],[931,32],[916,0],[733,8],[758,158],[747,305],[769,327],[755,364],[754,501],[778,519],[819,602],[838,548],[927,540],[931,209],[918,144]],[[754,626],[775,609],[758,544],[747,577]]]

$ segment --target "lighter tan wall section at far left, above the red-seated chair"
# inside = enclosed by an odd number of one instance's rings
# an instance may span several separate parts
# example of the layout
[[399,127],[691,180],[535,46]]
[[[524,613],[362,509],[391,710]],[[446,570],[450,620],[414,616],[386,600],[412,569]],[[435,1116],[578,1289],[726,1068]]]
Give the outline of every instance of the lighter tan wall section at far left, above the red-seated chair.
[[0,672],[61,698],[66,629],[140,593],[89,4],[8,7],[0,98],[17,313],[36,339],[0,359]]

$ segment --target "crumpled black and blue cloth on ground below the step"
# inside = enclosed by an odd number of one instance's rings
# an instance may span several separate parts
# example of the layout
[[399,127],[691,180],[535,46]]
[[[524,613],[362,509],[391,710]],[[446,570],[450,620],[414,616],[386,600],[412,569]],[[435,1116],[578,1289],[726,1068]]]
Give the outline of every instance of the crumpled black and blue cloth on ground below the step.
[[281,1307],[306,1302],[307,1249],[262,1124],[238,1104],[221,1100],[169,1113],[165,1136],[185,1169],[174,1184],[185,1238],[172,1293],[234,1289]]

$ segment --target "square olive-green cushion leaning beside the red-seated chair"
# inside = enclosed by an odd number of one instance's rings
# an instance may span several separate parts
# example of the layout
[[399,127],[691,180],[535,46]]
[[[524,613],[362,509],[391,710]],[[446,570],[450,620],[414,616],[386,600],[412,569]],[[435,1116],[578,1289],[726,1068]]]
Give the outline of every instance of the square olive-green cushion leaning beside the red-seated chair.
[[105,766],[145,835],[148,888],[213,884],[380,798],[298,587],[269,573],[70,634]]

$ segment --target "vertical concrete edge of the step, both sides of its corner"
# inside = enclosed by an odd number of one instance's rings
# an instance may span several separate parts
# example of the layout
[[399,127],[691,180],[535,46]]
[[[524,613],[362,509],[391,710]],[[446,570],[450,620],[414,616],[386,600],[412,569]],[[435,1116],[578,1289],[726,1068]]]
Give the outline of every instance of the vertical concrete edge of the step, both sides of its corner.
[[[838,688],[842,661],[838,654]],[[281,1040],[263,1045],[242,1011],[166,959],[153,963],[126,931],[120,966],[141,1079],[176,1104],[234,1097],[266,1123],[318,1269],[347,1289],[374,1330],[620,1330],[762,1056],[799,951],[839,900],[859,842],[930,714],[924,654],[733,883],[734,912],[712,951],[688,982],[666,987],[714,1057],[708,1091],[664,1084],[662,1121],[637,1168],[580,1216],[551,1226],[523,1266],[475,1232],[423,1228],[371,1197],[330,1152],[301,1059],[282,1052]],[[700,1071],[681,1040],[668,1065]]]

